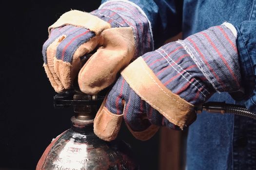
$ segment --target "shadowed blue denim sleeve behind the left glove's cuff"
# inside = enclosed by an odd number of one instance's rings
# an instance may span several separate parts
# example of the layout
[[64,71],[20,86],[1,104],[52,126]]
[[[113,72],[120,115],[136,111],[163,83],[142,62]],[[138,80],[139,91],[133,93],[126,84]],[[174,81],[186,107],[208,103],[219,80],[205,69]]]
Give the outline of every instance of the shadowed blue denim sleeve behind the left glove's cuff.
[[[109,0],[102,0],[101,3],[106,1]],[[183,0],[129,1],[138,5],[151,22],[155,47],[159,47],[164,40],[181,32]]]

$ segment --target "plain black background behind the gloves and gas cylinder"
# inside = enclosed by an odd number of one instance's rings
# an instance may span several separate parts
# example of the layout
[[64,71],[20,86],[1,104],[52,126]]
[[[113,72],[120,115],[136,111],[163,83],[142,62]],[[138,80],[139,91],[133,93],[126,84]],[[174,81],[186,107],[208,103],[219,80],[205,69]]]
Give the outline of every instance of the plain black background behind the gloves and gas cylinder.
[[[3,2],[1,2],[3,3]],[[90,12],[100,0],[4,1],[1,4],[0,170],[35,170],[52,138],[70,127],[72,109],[54,109],[42,67],[47,28],[70,9]],[[138,141],[122,128],[141,170],[158,169],[158,136]]]

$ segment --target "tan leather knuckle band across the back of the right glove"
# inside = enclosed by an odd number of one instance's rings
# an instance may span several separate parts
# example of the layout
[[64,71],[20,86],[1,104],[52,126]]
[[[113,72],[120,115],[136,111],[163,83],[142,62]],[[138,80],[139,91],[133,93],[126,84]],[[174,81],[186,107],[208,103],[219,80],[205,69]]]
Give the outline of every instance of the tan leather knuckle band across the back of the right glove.
[[142,57],[122,70],[121,75],[142,100],[181,129],[195,120],[194,105],[167,89]]

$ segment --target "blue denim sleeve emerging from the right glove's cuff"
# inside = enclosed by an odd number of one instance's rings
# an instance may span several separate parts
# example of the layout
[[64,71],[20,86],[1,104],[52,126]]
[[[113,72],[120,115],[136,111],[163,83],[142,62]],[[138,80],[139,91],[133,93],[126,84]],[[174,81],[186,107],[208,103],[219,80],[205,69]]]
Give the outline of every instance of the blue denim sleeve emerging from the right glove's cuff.
[[245,95],[245,106],[256,112],[256,21],[243,21],[236,25],[237,48]]

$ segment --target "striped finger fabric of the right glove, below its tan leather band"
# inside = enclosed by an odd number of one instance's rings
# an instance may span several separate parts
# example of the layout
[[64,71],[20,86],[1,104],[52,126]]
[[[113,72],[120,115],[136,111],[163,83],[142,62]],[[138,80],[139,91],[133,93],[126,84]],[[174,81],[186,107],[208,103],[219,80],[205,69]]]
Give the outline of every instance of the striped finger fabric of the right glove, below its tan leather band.
[[[122,101],[125,102],[125,108]],[[136,132],[146,130],[151,124],[179,129],[147,102],[141,100],[122,76],[109,92],[105,107],[113,114],[123,114],[125,123]]]

